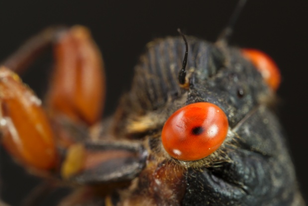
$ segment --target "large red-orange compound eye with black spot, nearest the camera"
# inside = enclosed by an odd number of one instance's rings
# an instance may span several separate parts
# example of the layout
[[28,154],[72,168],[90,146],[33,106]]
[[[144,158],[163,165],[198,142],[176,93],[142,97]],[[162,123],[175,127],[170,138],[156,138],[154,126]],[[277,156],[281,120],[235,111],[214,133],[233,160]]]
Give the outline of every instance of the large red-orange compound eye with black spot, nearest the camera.
[[199,102],[173,113],[162,131],[165,150],[175,159],[194,161],[213,153],[224,141],[228,119],[216,105]]

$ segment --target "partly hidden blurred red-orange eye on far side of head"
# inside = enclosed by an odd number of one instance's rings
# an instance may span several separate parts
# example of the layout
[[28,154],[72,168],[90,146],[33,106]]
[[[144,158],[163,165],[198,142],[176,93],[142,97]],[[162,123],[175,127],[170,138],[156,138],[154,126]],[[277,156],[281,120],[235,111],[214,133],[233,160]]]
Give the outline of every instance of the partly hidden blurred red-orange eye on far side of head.
[[281,76],[274,60],[267,54],[256,49],[242,49],[242,53],[261,72],[265,82],[272,89],[277,90],[280,85]]

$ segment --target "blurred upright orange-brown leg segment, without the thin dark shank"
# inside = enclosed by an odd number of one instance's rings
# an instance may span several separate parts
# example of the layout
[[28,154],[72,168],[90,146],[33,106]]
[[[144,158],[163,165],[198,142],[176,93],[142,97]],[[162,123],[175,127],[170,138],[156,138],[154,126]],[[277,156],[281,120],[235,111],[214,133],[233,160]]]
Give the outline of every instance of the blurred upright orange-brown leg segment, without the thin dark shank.
[[48,107],[75,122],[93,125],[102,115],[105,79],[103,59],[83,26],[59,35],[54,46],[55,68],[47,97]]

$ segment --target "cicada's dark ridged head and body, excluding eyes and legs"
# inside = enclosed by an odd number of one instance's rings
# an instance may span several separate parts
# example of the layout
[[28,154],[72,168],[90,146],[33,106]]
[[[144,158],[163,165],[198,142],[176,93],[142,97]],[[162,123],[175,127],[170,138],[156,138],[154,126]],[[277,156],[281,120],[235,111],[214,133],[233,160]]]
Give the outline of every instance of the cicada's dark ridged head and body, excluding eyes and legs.
[[[303,206],[283,130],[268,106],[273,91],[239,49],[193,37],[188,42],[189,89],[177,79],[183,40],[158,39],[141,56],[119,105],[115,136],[142,140],[148,153],[133,185],[120,192],[119,205]],[[222,108],[227,139],[206,160],[174,161],[163,152],[162,127],[173,112],[195,102]],[[134,127],[147,119],[147,129]]]

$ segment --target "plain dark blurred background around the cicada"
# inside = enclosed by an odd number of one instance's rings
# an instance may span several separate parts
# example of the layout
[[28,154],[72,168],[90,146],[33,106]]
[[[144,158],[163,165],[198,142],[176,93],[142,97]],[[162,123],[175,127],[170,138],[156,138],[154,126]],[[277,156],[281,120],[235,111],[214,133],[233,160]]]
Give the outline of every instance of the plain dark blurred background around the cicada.
[[[0,1],[0,60],[28,37],[55,24],[83,24],[102,49],[107,76],[104,115],[112,114],[128,90],[133,67],[145,44],[156,37],[186,34],[215,41],[237,0],[10,0]],[[230,44],[258,48],[276,60],[283,82],[278,90],[278,116],[289,137],[299,183],[308,194],[308,1],[248,0]],[[24,81],[44,96],[50,57],[32,66]],[[1,149],[3,199],[11,205],[37,183]],[[51,204],[51,203],[50,203]]]

